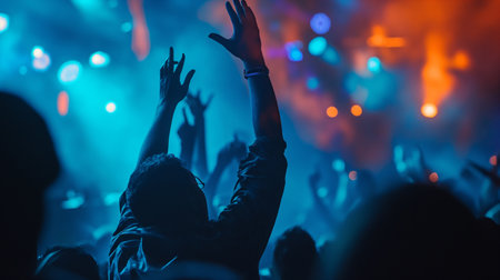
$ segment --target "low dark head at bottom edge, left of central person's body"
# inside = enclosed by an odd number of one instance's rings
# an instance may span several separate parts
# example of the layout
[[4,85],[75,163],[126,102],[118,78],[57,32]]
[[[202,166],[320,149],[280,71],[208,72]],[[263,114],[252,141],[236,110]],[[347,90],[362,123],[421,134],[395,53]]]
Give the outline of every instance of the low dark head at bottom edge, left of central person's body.
[[37,280],[80,279],[99,280],[96,260],[81,248],[54,247],[38,260]]

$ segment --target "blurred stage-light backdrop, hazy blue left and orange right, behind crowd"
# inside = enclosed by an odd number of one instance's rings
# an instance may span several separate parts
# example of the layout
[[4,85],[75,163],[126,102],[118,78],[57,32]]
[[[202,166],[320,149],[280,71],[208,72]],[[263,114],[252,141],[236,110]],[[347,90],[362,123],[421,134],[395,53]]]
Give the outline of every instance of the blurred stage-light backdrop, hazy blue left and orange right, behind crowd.
[[[379,191],[404,180],[412,166],[432,182],[462,178],[471,161],[497,166],[500,1],[248,2],[288,142],[273,237],[293,224],[320,242],[334,234],[314,198],[331,201],[332,214],[342,217],[361,174]],[[21,94],[46,118],[63,163],[47,193],[41,250],[98,242],[114,230],[170,46],[179,58],[186,53],[184,69],[197,70],[191,90],[202,99],[214,96],[206,113],[209,168],[234,134],[251,143],[242,66],[208,39],[210,32],[232,32],[221,0],[0,2],[0,88]],[[176,154],[180,111],[171,133]],[[237,162],[224,173],[221,204],[236,170]],[[314,170],[322,177],[312,193]],[[468,174],[472,184],[483,183],[482,174]]]

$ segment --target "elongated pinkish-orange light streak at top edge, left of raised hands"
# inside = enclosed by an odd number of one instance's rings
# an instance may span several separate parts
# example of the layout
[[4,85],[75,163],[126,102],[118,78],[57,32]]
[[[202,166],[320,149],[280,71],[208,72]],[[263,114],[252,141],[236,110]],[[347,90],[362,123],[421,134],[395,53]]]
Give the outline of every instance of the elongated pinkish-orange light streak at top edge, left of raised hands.
[[150,41],[142,0],[128,0],[128,4],[133,19],[132,50],[138,60],[144,60],[149,54]]

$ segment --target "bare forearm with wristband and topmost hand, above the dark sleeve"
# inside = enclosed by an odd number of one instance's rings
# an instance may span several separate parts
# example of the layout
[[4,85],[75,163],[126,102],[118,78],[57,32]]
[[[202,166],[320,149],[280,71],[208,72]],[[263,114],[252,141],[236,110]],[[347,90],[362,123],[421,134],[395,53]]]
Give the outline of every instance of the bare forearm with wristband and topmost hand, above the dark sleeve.
[[269,70],[262,56],[256,16],[244,0],[233,0],[233,3],[236,11],[231,3],[226,2],[226,9],[234,31],[232,37],[226,39],[216,33],[211,33],[209,37],[243,61],[244,76],[250,86],[256,136],[281,139],[280,113],[269,79]]

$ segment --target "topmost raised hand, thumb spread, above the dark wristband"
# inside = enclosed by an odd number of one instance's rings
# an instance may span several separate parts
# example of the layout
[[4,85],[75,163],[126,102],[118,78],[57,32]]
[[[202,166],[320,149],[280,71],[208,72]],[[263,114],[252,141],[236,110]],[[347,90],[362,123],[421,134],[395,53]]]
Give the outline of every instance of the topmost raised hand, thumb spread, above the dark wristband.
[[234,57],[240,58],[246,63],[263,64],[261,41],[256,16],[247,2],[233,0],[234,9],[231,3],[226,2],[226,9],[231,18],[233,34],[226,39],[220,34],[211,33],[210,39],[222,44]]

